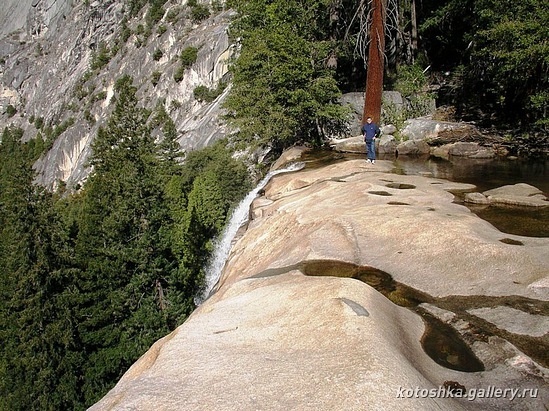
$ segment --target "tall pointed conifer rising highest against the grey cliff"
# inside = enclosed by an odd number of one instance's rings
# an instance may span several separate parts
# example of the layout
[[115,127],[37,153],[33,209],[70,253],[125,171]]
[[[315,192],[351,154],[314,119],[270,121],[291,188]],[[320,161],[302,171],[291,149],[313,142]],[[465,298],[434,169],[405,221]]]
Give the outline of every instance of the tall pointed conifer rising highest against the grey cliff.
[[176,262],[165,238],[171,218],[162,180],[173,159],[161,156],[131,77],[119,79],[115,92],[113,114],[93,144],[76,241],[89,403],[178,323],[166,310]]

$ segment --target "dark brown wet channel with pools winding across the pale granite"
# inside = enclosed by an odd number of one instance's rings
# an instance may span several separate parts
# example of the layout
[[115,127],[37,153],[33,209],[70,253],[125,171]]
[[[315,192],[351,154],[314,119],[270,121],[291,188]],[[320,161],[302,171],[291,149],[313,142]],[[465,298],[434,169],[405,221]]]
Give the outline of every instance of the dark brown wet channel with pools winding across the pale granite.
[[[544,367],[549,367],[549,338],[547,338],[549,336],[549,322],[547,322],[549,304],[545,301],[516,296],[435,298],[395,281],[390,274],[381,270],[335,260],[304,261],[294,266],[265,270],[251,278],[272,277],[293,270],[299,270],[308,276],[354,278],[375,288],[393,303],[409,308],[420,315],[425,322],[425,333],[421,339],[423,349],[437,364],[444,367],[464,372],[483,371],[484,365],[471,346],[475,341],[487,341],[493,336],[509,341]],[[427,304],[429,309],[426,308]],[[437,311],[434,311],[431,306],[443,310],[445,315],[437,317]],[[505,328],[500,329],[497,324],[475,315],[479,310],[486,312],[501,307],[512,308],[517,313],[523,313],[533,323],[539,322],[543,328],[537,334],[531,329],[512,332]],[[524,318],[518,318],[518,321],[524,321]],[[463,331],[461,334],[450,325],[457,323],[461,323],[460,327]],[[503,320],[503,323],[512,324],[513,322]]]

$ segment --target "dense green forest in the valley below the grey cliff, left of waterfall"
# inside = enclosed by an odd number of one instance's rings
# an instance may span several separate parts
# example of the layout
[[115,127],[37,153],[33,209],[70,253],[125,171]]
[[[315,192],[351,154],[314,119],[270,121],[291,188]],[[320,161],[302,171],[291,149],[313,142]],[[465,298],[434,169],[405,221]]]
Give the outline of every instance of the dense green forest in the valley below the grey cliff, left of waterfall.
[[137,107],[127,76],[78,193],[32,184],[21,134],[0,145],[0,408],[84,409],[194,309],[250,178],[223,142],[181,165],[173,123]]

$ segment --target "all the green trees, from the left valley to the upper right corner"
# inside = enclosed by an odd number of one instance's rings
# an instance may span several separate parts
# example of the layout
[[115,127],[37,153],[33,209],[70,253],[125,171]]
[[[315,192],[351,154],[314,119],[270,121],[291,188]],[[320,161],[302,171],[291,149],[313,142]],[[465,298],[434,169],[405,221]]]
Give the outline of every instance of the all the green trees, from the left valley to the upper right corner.
[[[222,7],[188,3],[198,20]],[[345,132],[339,97],[363,91],[369,4],[229,0],[239,53],[225,108],[238,132],[204,150],[180,151],[164,106],[139,101],[127,75],[116,83],[82,187],[34,185],[32,165],[51,141],[23,142],[19,128],[3,130],[1,410],[85,409],[185,320],[212,239],[252,184],[250,164],[234,151],[268,148],[274,157]],[[173,5],[127,0],[126,12],[148,7],[152,25]],[[385,89],[412,103],[434,94],[461,118],[547,138],[547,0],[387,7]]]

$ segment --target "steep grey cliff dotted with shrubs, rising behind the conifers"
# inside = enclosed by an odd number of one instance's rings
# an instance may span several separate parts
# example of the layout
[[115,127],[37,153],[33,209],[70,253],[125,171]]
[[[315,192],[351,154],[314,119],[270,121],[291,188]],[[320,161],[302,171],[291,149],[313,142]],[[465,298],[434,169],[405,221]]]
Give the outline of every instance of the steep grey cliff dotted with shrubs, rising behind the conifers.
[[[45,126],[64,130],[69,124],[35,165],[41,184],[63,180],[71,187],[86,178],[90,143],[112,109],[113,86],[123,74],[134,78],[145,107],[164,104],[183,149],[203,147],[226,133],[219,120],[226,91],[205,103],[193,90],[215,89],[227,73],[231,12],[214,12],[197,24],[186,2],[168,1],[150,33],[143,33],[144,8],[128,20],[124,35],[123,8],[122,0],[6,0],[0,9],[0,126],[21,127],[29,140],[44,135]],[[187,47],[198,48],[198,57],[176,81],[179,55]]]

